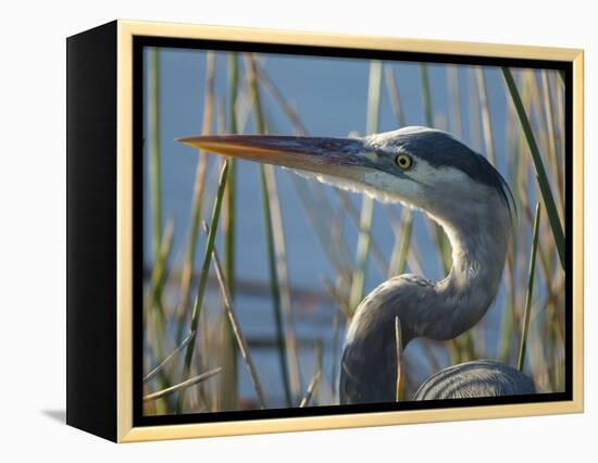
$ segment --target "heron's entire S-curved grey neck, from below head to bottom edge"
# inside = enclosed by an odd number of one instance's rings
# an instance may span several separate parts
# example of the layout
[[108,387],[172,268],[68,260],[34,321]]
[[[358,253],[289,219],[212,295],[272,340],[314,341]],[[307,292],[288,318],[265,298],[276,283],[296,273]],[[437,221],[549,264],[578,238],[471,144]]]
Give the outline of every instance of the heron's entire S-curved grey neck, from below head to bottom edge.
[[452,267],[443,280],[400,275],[363,299],[345,341],[341,403],[394,400],[395,317],[401,322],[404,347],[422,336],[454,338],[484,316],[500,284],[511,226],[507,207],[490,205],[496,208],[453,212],[460,217],[432,217],[444,227],[452,248]]

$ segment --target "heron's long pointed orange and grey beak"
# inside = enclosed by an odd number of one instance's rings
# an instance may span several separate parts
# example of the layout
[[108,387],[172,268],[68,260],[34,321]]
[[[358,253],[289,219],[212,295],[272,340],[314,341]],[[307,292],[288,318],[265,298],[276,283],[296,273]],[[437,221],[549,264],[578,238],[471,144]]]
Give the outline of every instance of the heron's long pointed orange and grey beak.
[[207,135],[179,138],[185,145],[265,164],[356,179],[356,167],[369,167],[359,138],[274,135]]

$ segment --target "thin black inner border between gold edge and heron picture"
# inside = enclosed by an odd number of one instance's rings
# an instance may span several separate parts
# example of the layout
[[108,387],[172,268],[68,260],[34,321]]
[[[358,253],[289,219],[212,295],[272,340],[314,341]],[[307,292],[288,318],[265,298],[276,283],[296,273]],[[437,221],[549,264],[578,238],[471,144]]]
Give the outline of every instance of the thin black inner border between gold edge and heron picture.
[[[247,410],[180,415],[144,416],[142,413],[142,300],[144,300],[144,55],[145,47],[165,47],[214,51],[281,53],[327,58],[358,58],[386,61],[411,61],[441,64],[475,64],[557,70],[565,85],[565,390],[530,396],[506,396],[390,402],[356,405],[326,405],[291,409]],[[573,63],[547,60],[469,57],[441,53],[419,53],[375,49],[250,43],[242,41],[179,39],[135,36],[133,39],[133,424],[155,426],[226,421],[287,418],[300,416],[344,415],[402,410],[427,410],[503,405],[573,400]]]

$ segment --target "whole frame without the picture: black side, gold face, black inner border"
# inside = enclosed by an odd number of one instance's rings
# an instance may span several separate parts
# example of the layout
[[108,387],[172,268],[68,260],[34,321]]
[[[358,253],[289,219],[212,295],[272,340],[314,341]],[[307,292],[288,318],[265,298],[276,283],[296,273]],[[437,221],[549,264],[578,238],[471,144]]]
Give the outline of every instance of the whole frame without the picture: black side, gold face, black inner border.
[[[562,126],[556,123],[555,126],[558,127],[557,132],[563,146],[563,168],[560,174],[564,179],[561,212],[561,233],[564,237],[562,254],[559,255],[561,250],[558,245],[546,249],[551,253],[551,260],[547,265],[552,268],[553,264],[557,270],[562,265],[562,286],[555,290],[562,298],[562,304],[561,299],[558,304],[555,302],[556,310],[561,311],[559,313],[562,315],[562,320],[559,318],[562,340],[560,350],[557,349],[562,355],[559,353],[555,356],[560,359],[559,366],[552,365],[548,368],[552,373],[546,375],[552,374],[557,377],[559,374],[555,373],[555,370],[561,368],[562,390],[541,391],[525,397],[515,393],[510,397],[337,404],[334,402],[334,384],[331,386],[333,399],[328,405],[300,408],[296,404],[263,410],[239,408],[227,411],[208,410],[201,413],[159,413],[152,409],[149,413],[148,409],[144,408],[144,399],[150,393],[145,389],[146,383],[142,378],[151,373],[144,356],[148,350],[148,322],[144,302],[148,277],[145,276],[147,251],[144,241],[147,241],[150,226],[145,222],[147,205],[144,204],[149,201],[146,185],[149,174],[145,164],[148,145],[151,142],[148,141],[148,137],[152,135],[151,122],[148,121],[151,118],[151,114],[148,115],[148,88],[155,84],[148,80],[148,50],[155,48],[174,49],[179,52],[233,51],[239,55],[257,53],[307,59],[319,57],[365,62],[375,60],[431,65],[469,65],[479,68],[493,66],[507,70],[555,70],[555,79],[551,82],[561,86],[563,95],[564,122]],[[583,411],[582,50],[122,20],[70,37],[66,49],[67,424],[113,441],[130,442]],[[247,66],[251,70],[251,61]],[[248,75],[246,78],[250,79],[251,73]],[[544,76],[538,78],[541,79]],[[507,75],[504,79],[504,95],[513,97],[513,88],[510,88],[511,93],[508,91],[509,85],[514,85],[516,92],[516,83],[513,79],[509,80]],[[547,85],[541,88],[546,89]],[[550,96],[550,90],[546,91],[549,92],[547,101],[556,101],[556,97]],[[518,114],[518,103],[504,98],[507,104],[513,104],[513,114]],[[524,102],[521,103],[521,108],[525,116]],[[533,143],[536,138],[533,129],[530,128],[531,125],[526,126],[521,122],[521,114],[519,115],[520,118],[515,117],[514,121],[521,123],[516,126],[521,132],[520,139],[524,145]],[[433,121],[434,116],[428,118]],[[527,124],[534,124],[532,117]],[[178,137],[187,137],[184,141],[192,143],[195,139],[189,136],[199,135],[199,128],[198,126],[195,133],[180,133]],[[315,129],[317,128],[316,126]],[[347,137],[347,140],[351,139],[354,138]],[[522,152],[526,152],[525,157],[531,155],[530,159],[533,159],[534,154],[528,154],[525,150],[533,152],[534,149],[525,146],[527,148],[522,148]],[[410,160],[409,163],[411,162]],[[537,160],[528,162],[530,168],[536,168],[530,172],[535,172],[537,177],[541,177],[543,174],[538,174],[537,171]],[[556,165],[560,164],[557,162]],[[559,172],[552,174],[558,176]],[[544,176],[547,176],[546,173]],[[531,178],[531,182],[535,180],[535,177]],[[552,180],[553,178],[550,178],[550,182]],[[170,188],[170,185],[166,187]],[[541,232],[546,238],[543,235],[540,239],[557,243],[559,238],[551,221],[559,221],[559,215],[556,209],[550,215],[550,201],[547,201],[545,191],[541,190],[543,182],[538,180],[538,202],[543,204],[543,211],[548,211],[548,215],[541,216],[545,227]],[[209,216],[209,212],[205,212],[205,217]],[[534,228],[533,221],[530,221],[530,224],[528,228]],[[555,233],[553,236],[551,232]],[[532,247],[532,241],[525,241],[526,246]],[[208,254],[213,261],[214,258]],[[528,259],[526,252],[523,254]],[[263,259],[265,262],[266,258]],[[201,255],[196,261],[201,263]],[[214,265],[210,260],[208,264]],[[200,265],[197,264],[197,267]],[[521,275],[524,274],[525,272]],[[207,283],[203,285],[205,288]],[[201,284],[199,286],[201,287]],[[217,290],[215,292],[217,293]],[[367,291],[362,288],[360,293],[364,296]],[[514,320],[522,326],[530,323],[533,283],[531,293],[527,309],[518,305],[518,311],[513,312],[521,315],[521,320]],[[186,305],[192,306],[191,302]],[[217,305],[221,308],[222,302]],[[190,310],[185,314],[191,315]],[[185,320],[187,318],[190,316]],[[396,333],[402,333],[401,325],[397,326]],[[192,321],[189,329],[189,335],[192,335],[189,343],[194,345],[201,335],[197,335],[197,327],[192,329]],[[178,349],[179,345],[180,339],[175,342],[175,347]],[[525,345],[525,337],[522,345]],[[183,349],[179,352],[183,352]],[[150,362],[151,366],[163,361],[166,353],[155,355]],[[322,365],[320,367],[322,368]],[[242,368],[242,365],[237,364],[237,370]],[[185,377],[190,377],[189,371],[187,373]],[[306,390],[308,385],[303,386],[302,390]],[[174,406],[178,405],[173,404]]]

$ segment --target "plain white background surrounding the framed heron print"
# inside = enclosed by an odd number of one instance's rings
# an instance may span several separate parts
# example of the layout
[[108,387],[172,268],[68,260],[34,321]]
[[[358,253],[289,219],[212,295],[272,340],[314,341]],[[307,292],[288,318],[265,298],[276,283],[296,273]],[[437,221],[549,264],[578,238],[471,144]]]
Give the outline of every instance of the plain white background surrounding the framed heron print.
[[[596,18],[591,1],[1,3],[0,460],[598,461]],[[115,446],[65,426],[65,37],[116,17],[586,50],[586,412]],[[594,256],[594,263],[593,261]]]

